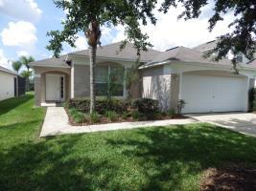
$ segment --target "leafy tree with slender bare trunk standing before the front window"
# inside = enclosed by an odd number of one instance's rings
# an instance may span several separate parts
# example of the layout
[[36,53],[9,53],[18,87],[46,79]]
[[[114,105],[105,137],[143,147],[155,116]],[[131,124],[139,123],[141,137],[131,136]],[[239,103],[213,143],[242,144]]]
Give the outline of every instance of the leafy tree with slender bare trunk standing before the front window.
[[140,24],[147,25],[150,20],[155,24],[151,11],[156,0],[55,0],[56,6],[67,12],[66,20],[62,22],[62,31],[48,32],[51,37],[48,50],[54,55],[62,51],[62,43],[66,42],[75,47],[77,33],[83,32],[89,46],[90,59],[90,113],[95,110],[95,62],[97,47],[101,45],[102,27],[111,28],[117,25],[125,26],[127,39],[120,47],[123,49],[126,42],[134,43],[135,48],[146,51],[151,46],[147,42],[148,35],[141,32]]

